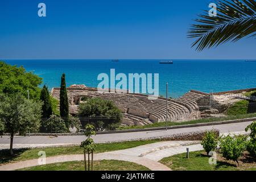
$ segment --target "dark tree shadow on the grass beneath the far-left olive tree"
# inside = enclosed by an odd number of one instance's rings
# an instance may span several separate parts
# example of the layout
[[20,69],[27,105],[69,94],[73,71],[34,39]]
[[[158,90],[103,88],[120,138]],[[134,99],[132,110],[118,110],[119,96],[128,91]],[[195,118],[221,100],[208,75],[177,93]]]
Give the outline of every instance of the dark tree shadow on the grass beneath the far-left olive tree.
[[27,151],[28,148],[20,148],[20,149],[14,149],[14,155],[10,155],[10,150],[9,149],[3,149],[0,150],[0,164],[3,163],[9,163],[16,158],[18,158],[24,151]]

